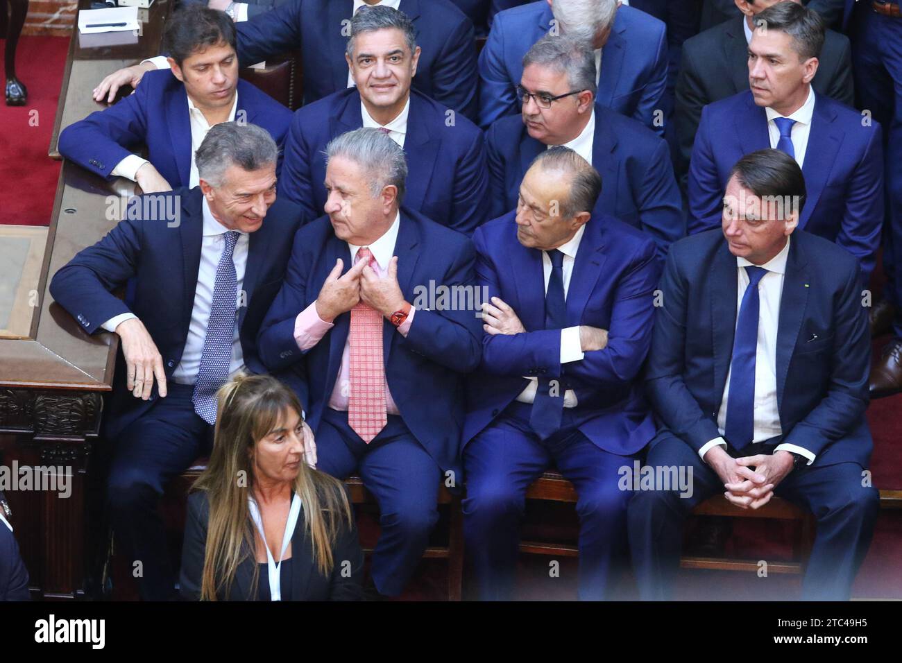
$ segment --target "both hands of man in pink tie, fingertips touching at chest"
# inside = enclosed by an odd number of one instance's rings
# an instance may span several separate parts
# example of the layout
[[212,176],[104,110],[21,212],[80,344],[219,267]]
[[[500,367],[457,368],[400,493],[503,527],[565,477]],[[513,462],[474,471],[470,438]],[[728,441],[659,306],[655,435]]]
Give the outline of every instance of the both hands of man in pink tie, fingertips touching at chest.
[[342,313],[364,301],[386,318],[404,306],[404,295],[398,285],[398,257],[389,262],[388,273],[380,277],[367,261],[361,260],[342,274],[345,263],[339,258],[323,283],[317,297],[317,315],[332,322]]

